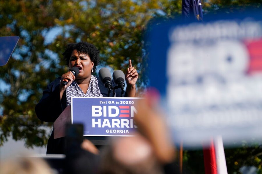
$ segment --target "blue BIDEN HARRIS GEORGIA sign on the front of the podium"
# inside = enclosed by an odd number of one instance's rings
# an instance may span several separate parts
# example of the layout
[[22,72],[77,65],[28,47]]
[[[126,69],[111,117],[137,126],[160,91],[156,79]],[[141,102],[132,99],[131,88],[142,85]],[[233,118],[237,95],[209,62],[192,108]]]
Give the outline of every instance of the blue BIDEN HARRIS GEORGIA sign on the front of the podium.
[[84,136],[132,136],[139,99],[72,97],[71,122],[84,124]]

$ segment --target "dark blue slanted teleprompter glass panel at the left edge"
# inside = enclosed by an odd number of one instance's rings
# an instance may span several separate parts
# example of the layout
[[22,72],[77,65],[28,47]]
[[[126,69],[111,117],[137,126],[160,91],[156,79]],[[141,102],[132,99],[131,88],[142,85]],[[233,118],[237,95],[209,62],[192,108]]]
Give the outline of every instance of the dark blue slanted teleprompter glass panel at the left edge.
[[0,37],[0,66],[7,64],[18,40],[18,36]]

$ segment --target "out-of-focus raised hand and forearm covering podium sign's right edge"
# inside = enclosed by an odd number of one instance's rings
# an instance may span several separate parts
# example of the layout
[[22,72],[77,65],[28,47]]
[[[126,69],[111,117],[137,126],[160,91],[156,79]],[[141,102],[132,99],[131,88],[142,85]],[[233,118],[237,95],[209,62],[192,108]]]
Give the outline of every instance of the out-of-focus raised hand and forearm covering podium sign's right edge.
[[156,89],[150,89],[136,104],[137,115],[134,122],[139,132],[152,144],[153,150],[159,162],[167,164],[174,162],[176,148],[171,140],[170,132],[160,111],[159,93]]

